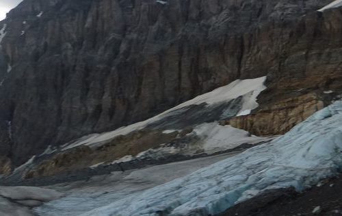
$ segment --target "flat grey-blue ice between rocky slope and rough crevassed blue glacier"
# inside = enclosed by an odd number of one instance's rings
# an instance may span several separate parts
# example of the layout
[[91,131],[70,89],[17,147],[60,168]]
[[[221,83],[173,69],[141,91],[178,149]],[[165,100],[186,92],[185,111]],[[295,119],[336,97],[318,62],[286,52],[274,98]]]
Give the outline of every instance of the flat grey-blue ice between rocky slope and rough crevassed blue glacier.
[[53,188],[66,193],[66,196],[36,208],[36,213],[44,216],[80,215],[123,197],[138,195],[146,189],[181,178],[234,154],[236,153],[185,160],[131,172],[113,172],[109,176],[95,176],[86,183],[56,185]]

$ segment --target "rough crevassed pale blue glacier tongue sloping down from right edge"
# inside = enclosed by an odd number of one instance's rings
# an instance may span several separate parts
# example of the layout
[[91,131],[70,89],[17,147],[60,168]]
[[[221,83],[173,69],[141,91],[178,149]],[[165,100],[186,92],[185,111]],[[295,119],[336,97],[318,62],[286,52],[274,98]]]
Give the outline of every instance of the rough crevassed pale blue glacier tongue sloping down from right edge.
[[267,189],[298,191],[342,167],[342,101],[278,139],[83,215],[215,215]]

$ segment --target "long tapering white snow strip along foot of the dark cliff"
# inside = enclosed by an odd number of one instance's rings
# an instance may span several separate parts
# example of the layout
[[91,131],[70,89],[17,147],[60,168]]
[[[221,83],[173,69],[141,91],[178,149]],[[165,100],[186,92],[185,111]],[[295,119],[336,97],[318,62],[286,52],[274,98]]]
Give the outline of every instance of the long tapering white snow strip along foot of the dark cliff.
[[228,102],[233,99],[236,99],[237,97],[243,96],[244,104],[242,109],[240,110],[240,115],[241,113],[244,114],[247,112],[246,110],[248,110],[249,112],[249,110],[257,108],[258,104],[256,102],[256,99],[259,93],[261,93],[261,91],[265,90],[266,88],[266,86],[264,86],[263,84],[265,80],[266,77],[259,77],[256,79],[249,80],[235,80],[231,84],[222,86],[220,88],[216,88],[215,90],[209,93],[195,97],[194,99],[186,101],[185,103],[180,104],[179,106],[175,106],[170,110],[166,110],[165,112],[153,118],[147,119],[146,121],[134,123],[132,125],[128,125],[127,127],[118,128],[117,130],[105,132],[103,134],[90,134],[88,136],[84,136],[83,138],[75,142],[66,143],[62,146],[63,150],[70,149],[72,147],[77,147],[79,145],[101,145],[107,141],[110,141],[111,139],[114,139],[116,136],[126,135],[135,130],[141,130],[150,123],[163,119],[164,117],[168,117],[168,115],[172,115],[171,112],[174,110],[178,110],[180,108],[185,108],[187,106],[195,104],[199,105],[205,103],[208,106],[210,106],[212,104],[218,104],[224,101]]

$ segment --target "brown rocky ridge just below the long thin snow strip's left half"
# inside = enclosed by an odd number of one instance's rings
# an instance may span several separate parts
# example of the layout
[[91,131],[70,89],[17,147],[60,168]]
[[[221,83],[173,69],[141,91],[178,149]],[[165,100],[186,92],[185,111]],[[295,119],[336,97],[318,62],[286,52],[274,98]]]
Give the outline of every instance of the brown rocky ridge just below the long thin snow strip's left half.
[[[23,173],[23,178],[41,178],[89,168],[97,164],[111,164],[124,156],[136,156],[147,149],[168,143],[176,138],[178,132],[164,134],[158,131],[138,131],[126,136],[118,136],[105,145],[96,148],[76,147],[42,160]],[[183,134],[184,136],[185,134]]]

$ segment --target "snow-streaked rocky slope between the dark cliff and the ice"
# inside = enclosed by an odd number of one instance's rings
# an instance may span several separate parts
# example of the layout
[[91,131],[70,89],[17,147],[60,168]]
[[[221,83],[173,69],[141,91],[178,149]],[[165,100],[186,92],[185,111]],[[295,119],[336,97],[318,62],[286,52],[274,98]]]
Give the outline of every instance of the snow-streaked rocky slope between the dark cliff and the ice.
[[[273,138],[220,125],[221,120],[248,115],[259,106],[257,97],[265,90],[265,79],[235,80],[146,121],[89,134],[59,147],[49,145],[0,182],[39,185],[80,180],[111,171],[233,152],[269,141]],[[68,173],[75,178],[69,178]]]

